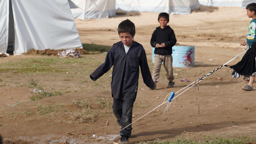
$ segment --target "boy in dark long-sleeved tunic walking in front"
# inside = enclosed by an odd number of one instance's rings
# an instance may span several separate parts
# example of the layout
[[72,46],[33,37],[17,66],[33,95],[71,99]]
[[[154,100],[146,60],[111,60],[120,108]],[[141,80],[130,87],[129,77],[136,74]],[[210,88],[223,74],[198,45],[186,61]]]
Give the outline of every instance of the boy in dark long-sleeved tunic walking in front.
[[[130,20],[124,20],[118,25],[118,34],[121,41],[115,43],[108,52],[105,62],[91,75],[97,80],[113,66],[111,91],[113,97],[113,113],[121,129],[132,123],[132,108],[138,90],[139,66],[143,81],[151,89],[156,85],[152,80],[148,67],[146,53],[141,44],[133,41],[135,25]],[[121,130],[121,139],[118,144],[129,144],[132,125]]]

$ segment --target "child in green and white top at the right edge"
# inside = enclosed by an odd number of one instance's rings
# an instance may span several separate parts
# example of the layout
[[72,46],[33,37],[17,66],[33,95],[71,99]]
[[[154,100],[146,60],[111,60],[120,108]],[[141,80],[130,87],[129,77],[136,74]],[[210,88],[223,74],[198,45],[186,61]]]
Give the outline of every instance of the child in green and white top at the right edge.
[[[246,41],[241,42],[240,45],[247,45],[247,47],[251,47],[254,42],[256,42],[256,35],[255,35],[255,29],[256,29],[256,3],[251,3],[246,6],[246,15],[248,18],[252,18],[250,25],[249,25],[249,31],[247,34]],[[256,58],[255,58],[256,60]],[[247,91],[254,91],[253,89],[253,83],[255,79],[256,72],[254,72],[249,79],[249,83],[247,86],[243,86],[242,89]]]

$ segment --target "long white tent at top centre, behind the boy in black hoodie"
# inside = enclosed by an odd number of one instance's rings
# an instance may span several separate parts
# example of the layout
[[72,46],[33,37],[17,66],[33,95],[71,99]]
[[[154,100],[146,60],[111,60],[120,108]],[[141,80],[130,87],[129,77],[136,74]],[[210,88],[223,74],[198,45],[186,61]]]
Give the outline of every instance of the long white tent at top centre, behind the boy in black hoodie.
[[171,15],[190,14],[198,9],[197,0],[116,0],[116,10],[124,12],[166,12]]

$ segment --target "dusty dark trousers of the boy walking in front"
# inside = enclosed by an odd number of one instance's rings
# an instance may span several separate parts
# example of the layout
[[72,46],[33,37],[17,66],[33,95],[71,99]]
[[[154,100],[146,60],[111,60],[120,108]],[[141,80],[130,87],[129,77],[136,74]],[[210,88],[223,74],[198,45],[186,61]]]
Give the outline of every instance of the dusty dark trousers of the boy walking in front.
[[[120,100],[113,98],[113,113],[117,118],[117,123],[121,126],[121,129],[132,123],[132,108],[135,102],[137,92],[132,99]],[[129,138],[132,134],[132,125],[119,132],[121,136]]]

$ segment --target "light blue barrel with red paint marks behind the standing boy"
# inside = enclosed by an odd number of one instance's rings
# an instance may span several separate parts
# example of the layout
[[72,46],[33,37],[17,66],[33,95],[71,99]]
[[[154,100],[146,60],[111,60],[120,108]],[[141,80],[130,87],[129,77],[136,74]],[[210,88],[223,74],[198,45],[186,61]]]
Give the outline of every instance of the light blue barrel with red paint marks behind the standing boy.
[[[173,46],[173,67],[195,67],[195,46]],[[152,48],[152,62],[155,61],[155,48]]]

